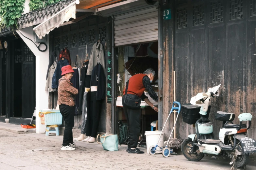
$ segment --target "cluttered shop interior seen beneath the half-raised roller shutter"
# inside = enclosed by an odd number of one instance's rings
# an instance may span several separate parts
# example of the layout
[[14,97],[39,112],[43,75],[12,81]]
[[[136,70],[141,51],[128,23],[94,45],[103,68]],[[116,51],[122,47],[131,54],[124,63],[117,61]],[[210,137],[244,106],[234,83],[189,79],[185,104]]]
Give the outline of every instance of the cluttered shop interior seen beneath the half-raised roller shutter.
[[[126,118],[122,108],[122,96],[128,79],[138,73],[143,73],[147,68],[152,68],[156,72],[156,76],[151,84],[152,89],[158,94],[158,42],[143,43],[125,47],[119,47],[118,51],[118,73],[117,77],[121,78],[118,88],[118,98],[116,101],[116,107],[118,109],[118,129],[121,133],[122,125],[126,123]],[[118,76],[119,74],[119,76]],[[158,106],[158,102],[155,102],[145,90],[145,95],[148,97],[151,103]],[[140,145],[145,145],[145,131],[156,130],[156,124],[158,123],[158,113],[148,106],[144,101],[141,102],[141,134]],[[153,125],[153,126],[151,126]],[[122,132],[121,132],[122,131]],[[123,135],[125,136],[125,135]],[[122,137],[121,137],[122,138]],[[126,137],[124,137],[126,139]],[[144,140],[142,140],[144,139]],[[127,144],[124,140],[121,140],[122,144]]]

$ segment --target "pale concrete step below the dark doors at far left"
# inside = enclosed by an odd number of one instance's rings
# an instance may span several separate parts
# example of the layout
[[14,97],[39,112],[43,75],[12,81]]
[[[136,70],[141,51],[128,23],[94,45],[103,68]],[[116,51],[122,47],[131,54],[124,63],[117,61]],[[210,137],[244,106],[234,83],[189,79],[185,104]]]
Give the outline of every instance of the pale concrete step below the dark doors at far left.
[[36,129],[24,129],[21,125],[0,122],[0,130],[9,131],[16,134],[34,134]]

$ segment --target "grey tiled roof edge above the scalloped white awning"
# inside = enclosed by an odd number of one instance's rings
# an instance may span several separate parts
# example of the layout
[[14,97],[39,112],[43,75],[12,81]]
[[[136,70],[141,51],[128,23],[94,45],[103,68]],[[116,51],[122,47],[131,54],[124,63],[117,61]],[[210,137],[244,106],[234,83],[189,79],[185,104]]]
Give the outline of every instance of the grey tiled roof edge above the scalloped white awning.
[[51,16],[53,16],[57,12],[59,12],[64,7],[67,7],[69,4],[71,4],[74,1],[75,0],[64,0],[52,5],[49,5],[47,7],[42,7],[35,11],[26,13],[18,19],[17,21],[18,28],[21,29],[21,28],[30,27],[32,25],[40,24],[43,21],[49,19]]

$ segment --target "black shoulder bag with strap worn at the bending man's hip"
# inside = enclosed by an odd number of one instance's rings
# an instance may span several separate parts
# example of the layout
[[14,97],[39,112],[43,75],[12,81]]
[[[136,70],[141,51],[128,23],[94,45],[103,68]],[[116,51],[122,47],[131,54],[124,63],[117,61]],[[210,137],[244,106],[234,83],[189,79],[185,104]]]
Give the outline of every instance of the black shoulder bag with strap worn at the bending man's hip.
[[126,83],[125,97],[123,98],[123,106],[133,110],[140,109],[141,98],[135,94],[127,94],[128,85],[129,85],[129,80]]

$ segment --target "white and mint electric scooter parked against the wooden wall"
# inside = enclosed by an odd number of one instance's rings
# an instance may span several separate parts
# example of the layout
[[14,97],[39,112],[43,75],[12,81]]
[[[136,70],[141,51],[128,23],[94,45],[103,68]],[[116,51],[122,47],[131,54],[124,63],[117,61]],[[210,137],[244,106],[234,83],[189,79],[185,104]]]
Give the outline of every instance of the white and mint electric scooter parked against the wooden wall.
[[[214,139],[213,123],[206,115],[210,97],[219,95],[220,85],[191,98],[192,105],[201,106],[199,112],[201,118],[196,121],[196,133],[188,135],[182,142],[181,151],[189,161],[200,161],[204,155],[227,156],[231,159],[230,165],[244,168],[249,161],[249,154],[256,152],[255,139],[247,137],[252,115],[242,113],[238,116],[240,124],[233,124],[235,114],[218,111],[215,113],[215,120],[222,121],[222,127],[219,131],[219,139]],[[184,105],[182,107],[188,109]],[[249,121],[249,126],[242,124],[242,121]]]

